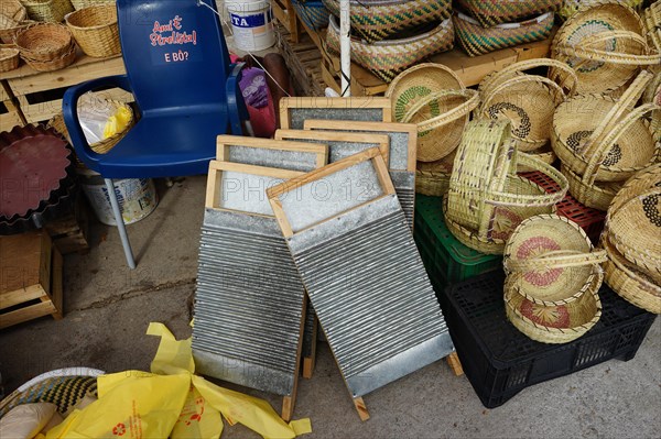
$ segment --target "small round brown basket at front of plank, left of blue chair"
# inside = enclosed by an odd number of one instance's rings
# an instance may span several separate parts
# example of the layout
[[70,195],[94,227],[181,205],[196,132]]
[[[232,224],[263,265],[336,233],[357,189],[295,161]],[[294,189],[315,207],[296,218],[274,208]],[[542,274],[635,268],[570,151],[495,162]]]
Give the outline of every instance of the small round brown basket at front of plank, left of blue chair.
[[14,44],[21,58],[37,72],[57,70],[76,59],[76,43],[62,24],[31,24],[17,34]]

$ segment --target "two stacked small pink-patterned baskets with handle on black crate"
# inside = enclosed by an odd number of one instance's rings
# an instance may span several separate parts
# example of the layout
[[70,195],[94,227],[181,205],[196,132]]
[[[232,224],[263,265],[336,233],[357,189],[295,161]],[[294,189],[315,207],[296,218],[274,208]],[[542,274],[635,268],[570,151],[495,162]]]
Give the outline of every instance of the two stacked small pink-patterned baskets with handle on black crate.
[[517,329],[543,343],[566,343],[599,320],[597,292],[604,250],[595,250],[575,222],[555,215],[531,217],[505,249],[505,303]]

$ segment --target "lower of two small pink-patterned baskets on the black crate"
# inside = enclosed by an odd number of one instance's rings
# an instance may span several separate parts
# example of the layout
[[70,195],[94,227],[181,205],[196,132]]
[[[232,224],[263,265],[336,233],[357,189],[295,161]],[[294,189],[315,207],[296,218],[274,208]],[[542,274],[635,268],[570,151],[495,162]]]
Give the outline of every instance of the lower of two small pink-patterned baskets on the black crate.
[[[600,284],[603,274],[593,277]],[[517,293],[508,277],[505,285],[505,311],[509,321],[532,340],[542,343],[568,343],[589,331],[602,317],[602,300],[595,287],[576,300],[559,306],[535,304]]]

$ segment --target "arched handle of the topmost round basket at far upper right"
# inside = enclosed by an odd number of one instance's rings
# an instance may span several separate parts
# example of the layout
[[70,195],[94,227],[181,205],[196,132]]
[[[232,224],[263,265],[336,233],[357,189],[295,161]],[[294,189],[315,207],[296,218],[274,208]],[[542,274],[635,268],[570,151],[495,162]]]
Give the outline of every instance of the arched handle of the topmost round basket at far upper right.
[[[594,44],[604,43],[614,39],[629,40],[635,44],[639,44],[642,47],[644,55],[609,52],[589,47]],[[598,61],[608,64],[658,65],[661,62],[661,55],[650,54],[650,47],[647,41],[631,31],[600,32],[583,39],[579,47],[570,44],[559,44],[555,48],[567,56],[576,56],[586,61]]]

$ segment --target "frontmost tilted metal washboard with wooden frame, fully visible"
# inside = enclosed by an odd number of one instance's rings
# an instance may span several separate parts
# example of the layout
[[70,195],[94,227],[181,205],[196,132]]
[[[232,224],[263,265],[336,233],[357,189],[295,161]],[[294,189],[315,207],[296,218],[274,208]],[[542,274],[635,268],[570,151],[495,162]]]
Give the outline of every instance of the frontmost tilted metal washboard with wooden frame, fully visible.
[[[366,182],[369,189],[347,191],[347,180]],[[370,149],[267,194],[354,404],[367,419],[362,395],[453,351],[386,163]]]

